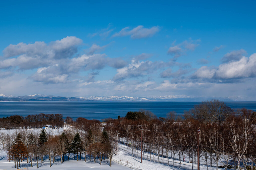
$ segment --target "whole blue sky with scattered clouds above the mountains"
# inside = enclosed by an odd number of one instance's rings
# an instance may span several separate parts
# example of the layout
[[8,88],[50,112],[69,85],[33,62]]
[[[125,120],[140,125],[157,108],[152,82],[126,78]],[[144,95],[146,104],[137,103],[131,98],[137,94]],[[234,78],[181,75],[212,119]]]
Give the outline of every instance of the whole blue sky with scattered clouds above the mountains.
[[0,93],[256,100],[255,1],[10,1]]

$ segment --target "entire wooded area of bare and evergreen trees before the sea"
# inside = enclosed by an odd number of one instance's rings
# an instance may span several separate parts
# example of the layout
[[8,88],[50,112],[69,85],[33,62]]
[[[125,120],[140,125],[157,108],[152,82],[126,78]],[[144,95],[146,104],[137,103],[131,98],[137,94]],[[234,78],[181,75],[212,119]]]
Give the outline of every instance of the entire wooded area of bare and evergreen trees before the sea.
[[[11,117],[11,116],[10,116]],[[12,123],[14,127],[39,126],[34,124],[38,117],[47,118],[49,115],[40,114],[27,116],[15,122],[18,116],[2,119],[1,122]],[[33,117],[33,118],[29,118]],[[37,118],[35,118],[37,117]],[[52,121],[46,119],[41,125],[63,125],[62,115],[56,115]],[[6,121],[8,120],[8,121]],[[32,120],[31,124],[25,124]],[[48,120],[48,121],[47,121]],[[49,123],[51,122],[51,123]],[[14,160],[15,167],[20,161],[42,162],[44,155],[51,161],[56,158],[64,160],[82,159],[88,155],[89,160],[101,163],[102,159],[111,160],[115,154],[116,141],[128,145],[132,156],[138,157],[141,149],[144,160],[163,162],[167,158],[168,165],[174,166],[174,159],[179,162],[188,158],[189,162],[197,162],[197,133],[199,134],[200,164],[234,169],[254,169],[256,163],[256,112],[247,109],[232,110],[221,101],[204,101],[179,117],[175,112],[169,112],[165,118],[157,118],[152,112],[140,110],[128,112],[125,117],[106,119],[103,124],[97,120],[87,120],[79,117],[76,121],[67,117],[68,126],[60,135],[51,135],[42,129],[40,133],[20,129],[18,133],[0,134],[1,143],[7,153],[7,161]],[[41,126],[40,125],[40,126]],[[39,127],[40,127],[39,126]],[[73,158],[71,158],[73,157]],[[174,159],[172,159],[174,158]],[[162,159],[162,160],[161,160]],[[172,162],[169,162],[172,159]],[[86,156],[84,156],[84,161]],[[16,165],[17,164],[17,165]]]

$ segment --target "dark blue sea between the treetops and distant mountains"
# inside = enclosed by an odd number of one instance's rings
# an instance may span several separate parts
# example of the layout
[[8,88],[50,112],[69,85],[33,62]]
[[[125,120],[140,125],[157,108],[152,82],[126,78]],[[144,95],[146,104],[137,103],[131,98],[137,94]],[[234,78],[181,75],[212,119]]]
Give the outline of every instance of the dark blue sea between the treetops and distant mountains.
[[[233,109],[247,108],[256,111],[256,101],[224,101]],[[117,119],[118,115],[125,116],[129,111],[139,109],[150,110],[158,117],[166,117],[170,111],[183,115],[201,101],[21,101],[0,102],[0,117],[10,115],[27,116],[29,114],[63,114],[76,119]]]

